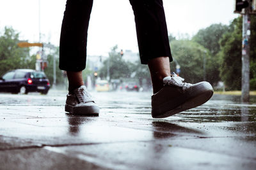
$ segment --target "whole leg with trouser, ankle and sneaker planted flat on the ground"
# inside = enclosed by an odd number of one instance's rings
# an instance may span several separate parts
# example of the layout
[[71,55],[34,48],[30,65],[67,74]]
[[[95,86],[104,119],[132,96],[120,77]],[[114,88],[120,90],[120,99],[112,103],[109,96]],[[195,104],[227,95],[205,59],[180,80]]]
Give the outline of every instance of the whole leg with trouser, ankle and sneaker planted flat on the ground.
[[93,0],[67,0],[61,26],[59,67],[68,77],[65,111],[73,114],[99,115],[99,106],[86,90],[82,76],[92,4]]

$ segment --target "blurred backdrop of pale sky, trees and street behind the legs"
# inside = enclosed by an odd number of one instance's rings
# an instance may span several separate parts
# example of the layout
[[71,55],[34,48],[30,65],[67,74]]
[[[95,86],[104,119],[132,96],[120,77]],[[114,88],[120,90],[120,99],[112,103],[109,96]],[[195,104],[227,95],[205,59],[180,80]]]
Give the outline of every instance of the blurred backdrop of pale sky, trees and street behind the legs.
[[[254,2],[254,1],[253,1]],[[13,69],[44,71],[51,88],[67,89],[58,69],[65,0],[0,1],[0,75]],[[215,90],[241,90],[243,17],[235,0],[163,0],[174,61],[185,81],[209,81]],[[256,90],[256,17],[250,17],[250,88]],[[20,45],[20,43],[23,43]],[[37,43],[37,44],[36,44]],[[83,72],[89,90],[150,91],[140,64],[129,0],[95,0]]]

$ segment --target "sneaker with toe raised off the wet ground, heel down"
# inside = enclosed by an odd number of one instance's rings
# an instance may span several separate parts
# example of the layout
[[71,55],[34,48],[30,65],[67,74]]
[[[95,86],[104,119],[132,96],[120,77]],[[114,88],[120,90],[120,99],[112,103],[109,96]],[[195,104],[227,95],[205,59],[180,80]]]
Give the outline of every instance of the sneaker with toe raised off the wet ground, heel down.
[[174,74],[164,78],[164,87],[152,95],[152,117],[170,117],[181,111],[204,104],[211,99],[213,89],[210,83],[183,83],[184,78]]

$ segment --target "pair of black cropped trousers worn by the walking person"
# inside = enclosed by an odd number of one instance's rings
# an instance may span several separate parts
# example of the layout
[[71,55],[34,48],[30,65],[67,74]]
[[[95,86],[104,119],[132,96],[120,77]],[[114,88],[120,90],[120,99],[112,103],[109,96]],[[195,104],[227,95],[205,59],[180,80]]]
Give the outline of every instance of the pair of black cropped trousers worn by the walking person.
[[[141,64],[170,57],[162,0],[129,0],[134,11]],[[82,71],[86,66],[87,32],[93,0],[67,0],[61,26],[60,69]]]

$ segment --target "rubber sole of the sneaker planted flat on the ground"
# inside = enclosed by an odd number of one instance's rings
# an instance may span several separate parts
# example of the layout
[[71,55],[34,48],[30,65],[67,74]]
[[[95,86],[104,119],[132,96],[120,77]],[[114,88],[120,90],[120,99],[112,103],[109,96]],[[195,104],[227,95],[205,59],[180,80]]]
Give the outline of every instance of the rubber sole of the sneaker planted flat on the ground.
[[65,105],[65,111],[76,115],[99,115],[99,107],[97,106],[86,106],[86,107],[74,107],[69,104]]

